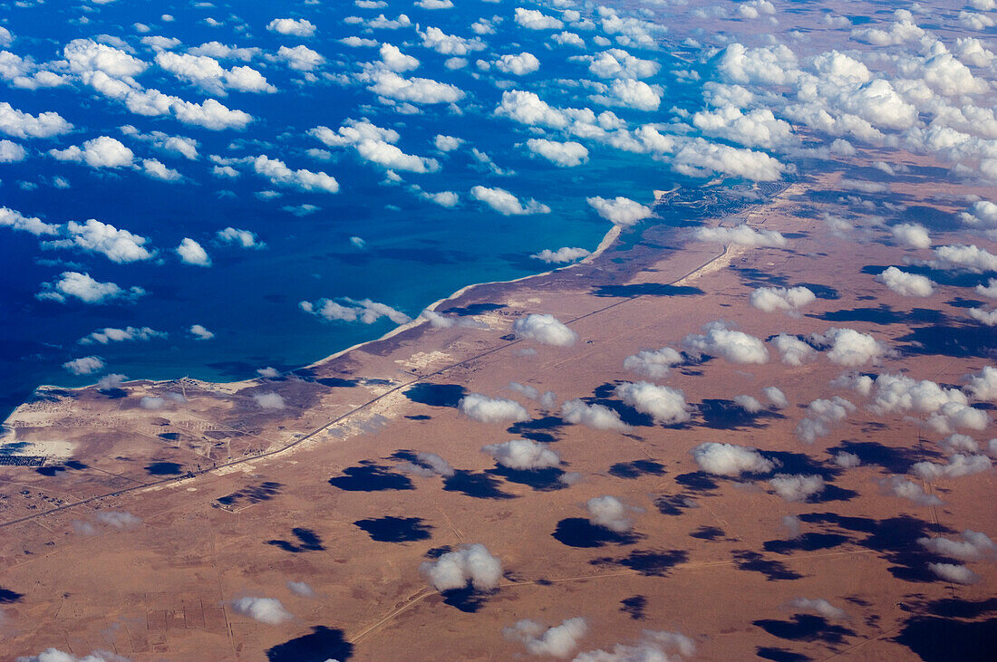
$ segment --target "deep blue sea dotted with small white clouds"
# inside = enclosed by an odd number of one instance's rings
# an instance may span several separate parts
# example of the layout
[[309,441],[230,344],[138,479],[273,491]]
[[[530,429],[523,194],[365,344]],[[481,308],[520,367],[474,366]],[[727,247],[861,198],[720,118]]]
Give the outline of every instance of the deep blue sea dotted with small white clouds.
[[[653,189],[684,181],[647,154],[498,116],[494,110],[504,90],[534,92],[555,108],[612,110],[632,127],[669,122],[674,119],[673,107],[695,109],[702,103],[700,84],[680,80],[673,73],[688,70],[689,65],[673,60],[666,50],[631,44],[627,53],[661,65],[660,72],[643,79],[662,92],[660,109],[594,105],[589,99],[592,91],[578,82],[595,77],[586,61],[572,57],[619,48],[615,43],[598,45],[612,36],[569,25],[562,30],[523,29],[515,23],[508,3],[460,0],[453,8],[438,10],[422,9],[411,1],[387,2],[383,7],[373,3],[374,8],[364,3],[289,1],[94,4],[49,0],[22,4],[4,3],[0,8],[0,25],[12,35],[4,50],[30,58],[35,63],[31,71],[44,69],[63,76],[64,83],[29,90],[7,81],[0,101],[33,115],[58,112],[75,128],[51,137],[0,132],[0,138],[26,150],[24,159],[0,163],[0,206],[59,225],[97,219],[147,238],[146,246],[155,249],[156,255],[119,264],[95,251],[45,246],[58,237],[0,227],[0,409],[4,414],[43,383],[76,386],[93,383],[106,373],[130,378],[189,375],[233,380],[255,376],[258,368],[266,366],[286,370],[312,362],[376,338],[395,324],[385,318],[370,325],[328,322],[301,311],[299,302],[370,299],[416,317],[427,305],[469,284],[550,269],[551,265],[529,257],[543,249],[593,250],[611,226],[586,203],[586,197],[625,196],[649,205]],[[550,7],[520,5],[551,17],[559,15]],[[410,19],[406,27],[369,27],[379,14],[397,19],[402,13]],[[166,20],[165,14],[172,20]],[[494,16],[500,18],[494,21],[494,33],[476,35],[472,24]],[[347,17],[359,17],[361,22]],[[314,34],[282,34],[267,28],[279,18],[306,20],[314,26]],[[464,56],[466,67],[452,70],[445,62],[454,56],[423,45],[420,31],[431,26],[447,35],[477,37],[486,46]],[[562,31],[578,34],[584,48],[551,39]],[[179,80],[154,64],[156,52],[149,40],[143,41],[152,36],[178,40],[166,49],[177,54],[209,42],[258,49],[245,61],[218,61],[225,69],[247,66],[256,70],[276,92],[228,90],[218,96]],[[464,93],[463,99],[456,109],[447,103],[411,107],[383,103],[368,89],[369,83],[358,82],[365,71],[362,63],[379,61],[378,47],[351,47],[340,41],[351,36],[399,47],[420,62],[417,69],[399,76],[456,86]],[[596,36],[601,36],[598,41]],[[159,90],[193,103],[215,98],[228,109],[251,114],[253,121],[244,128],[212,130],[184,123],[170,113],[134,112],[95,90],[66,65],[64,48],[79,39],[112,46],[149,63],[134,78],[145,91]],[[276,58],[281,47],[299,45],[320,54],[324,64],[303,72]],[[539,61],[537,71],[516,76],[476,66],[479,59],[494,62],[500,55],[523,52]],[[30,69],[30,65],[25,67]],[[439,171],[397,171],[400,181],[391,181],[384,167],[361,159],[354,148],[327,147],[309,134],[316,126],[335,130],[348,119],[362,118],[398,131],[401,137],[396,144],[402,151],[436,159]],[[162,131],[193,138],[198,157],[191,160],[157,151],[150,141],[123,132],[125,125],[147,135]],[[438,134],[464,142],[444,154],[434,145]],[[141,168],[90,167],[47,153],[102,135],[127,145],[137,163],[158,159],[181,178],[162,181]],[[523,146],[531,137],[582,142],[589,151],[588,160],[576,167],[555,166]],[[316,148],[330,152],[328,159],[308,153]],[[473,148],[487,153],[502,172],[479,162]],[[244,159],[260,154],[280,159],[292,170],[326,172],[338,181],[339,191],[274,185],[245,161],[234,166],[240,173],[235,178],[212,174],[215,163],[210,155]],[[57,185],[62,180],[65,187]],[[428,192],[456,192],[460,203],[453,208],[433,204],[413,192],[414,184]],[[469,194],[477,185],[505,189],[524,204],[535,199],[549,206],[550,212],[502,215]],[[273,197],[266,191],[280,195]],[[285,209],[300,205],[314,209],[303,214]],[[265,247],[247,250],[224,245],[215,233],[225,227],[248,230]],[[351,242],[353,237],[361,238],[363,246]],[[204,248],[210,267],[180,262],[173,249],[184,238]],[[36,297],[43,284],[56,281],[64,272],[89,274],[99,282],[126,289],[140,287],[148,294],[134,302],[105,304],[73,299],[58,303]],[[214,336],[198,339],[189,332],[192,325]],[[128,327],[149,327],[166,337],[108,344],[78,342],[92,331]],[[87,355],[100,356],[104,367],[81,375],[63,367]]]

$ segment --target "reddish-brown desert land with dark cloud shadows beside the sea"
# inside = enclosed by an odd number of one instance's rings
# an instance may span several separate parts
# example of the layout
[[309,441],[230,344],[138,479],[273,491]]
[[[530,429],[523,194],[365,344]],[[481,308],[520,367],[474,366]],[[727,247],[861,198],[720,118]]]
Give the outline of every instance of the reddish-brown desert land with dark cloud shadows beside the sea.
[[[681,348],[684,336],[718,320],[762,339],[832,327],[871,333],[893,350],[858,367],[872,374],[959,386],[987,365],[993,331],[960,302],[974,298],[972,289],[953,279],[912,299],[874,280],[888,265],[930,256],[892,243],[874,218],[884,202],[905,207],[894,217],[928,225],[936,244],[952,243],[950,219],[966,195],[985,192],[938,183],[931,163],[915,157],[891,159],[910,174],[887,193],[845,190],[842,176],[875,171],[842,163],[757,191],[760,202],[737,202],[722,184],[692,197],[665,194],[663,221],[624,230],[590,263],[472,288],[437,308],[488,329],[423,324],[273,379],[39,389],[7,420],[4,442],[44,463],[0,467],[4,659],[56,647],[136,660],[325,659],[315,650],[331,659],[505,660],[528,655],[504,627],[575,616],[588,632],[572,654],[634,642],[645,629],[680,632],[710,660],[942,659],[931,655],[992,644],[993,563],[969,563],[978,583],[950,583],[927,564],[961,561],[917,540],[997,531],[993,472],[914,479],[940,506],[879,484],[914,462],[943,461],[936,442],[944,435],[922,429],[915,414],[876,415],[867,398],[829,385],[841,365],[818,355],[790,366],[771,345],[765,364],[715,356],[651,379],[684,391],[692,417],[681,425],[655,424],[612,392],[646,379],[623,368],[625,357]],[[835,235],[825,212],[854,229]],[[789,241],[700,243],[693,228],[675,227],[684,218],[747,222]],[[758,287],[801,284],[819,298],[800,316],[748,303]],[[516,338],[511,325],[527,314],[555,316],[578,341]],[[553,391],[557,405],[543,410],[510,390],[513,381]],[[761,390],[773,385],[786,408],[752,414],[733,402],[742,394],[765,402]],[[283,409],[252,397],[271,392]],[[159,410],[140,406],[167,393],[183,397]],[[517,400],[531,420],[472,420],[456,406],[468,393]],[[827,436],[801,442],[794,429],[805,408],[832,395],[856,409]],[[569,424],[559,406],[572,398],[607,404],[633,427]],[[972,434],[985,442],[992,430]],[[561,468],[510,470],[482,452],[512,438],[548,443]],[[713,476],[690,454],[704,442],[756,447],[782,467]],[[837,466],[832,456],[842,450],[861,465]],[[456,473],[407,471],[417,452],[441,456]],[[564,472],[577,476],[561,480]],[[827,488],[789,502],[768,482],[777,472],[820,475]],[[585,504],[601,495],[635,509],[631,532],[588,524]],[[799,518],[799,532],[783,526],[786,516]],[[420,571],[479,543],[502,564],[494,590],[441,592]],[[297,595],[288,581],[314,594]],[[277,598],[292,617],[255,620],[233,608],[243,596]],[[826,599],[846,616],[788,606],[800,597]],[[293,643],[281,648],[292,640],[317,644],[316,656],[294,656]]]

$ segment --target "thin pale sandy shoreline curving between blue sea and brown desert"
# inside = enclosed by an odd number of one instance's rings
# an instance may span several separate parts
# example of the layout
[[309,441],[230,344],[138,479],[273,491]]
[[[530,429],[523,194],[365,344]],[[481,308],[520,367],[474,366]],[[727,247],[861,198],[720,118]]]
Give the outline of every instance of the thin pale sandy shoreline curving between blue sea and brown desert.
[[[403,325],[399,325],[399,326],[395,327],[394,329],[392,329],[391,331],[386,331],[385,333],[382,333],[378,337],[371,338],[369,340],[363,340],[361,342],[357,342],[357,343],[352,344],[352,345],[350,345],[348,347],[345,347],[343,349],[339,349],[337,351],[334,351],[331,354],[327,354],[325,356],[322,356],[321,358],[318,358],[318,359],[316,359],[316,360],[314,360],[314,361],[312,361],[310,363],[306,363],[306,364],[303,364],[303,365],[298,365],[297,367],[294,367],[294,368],[292,368],[290,370],[283,371],[283,372],[280,373],[280,376],[293,375],[298,370],[304,370],[304,369],[308,369],[308,368],[317,367],[319,365],[322,365],[323,363],[326,363],[326,362],[335,360],[337,358],[340,358],[340,357],[342,357],[342,356],[350,353],[351,351],[355,351],[355,350],[360,349],[360,348],[362,348],[364,346],[373,344],[375,342],[381,342],[381,341],[384,341],[384,340],[391,339],[391,338],[395,337],[396,335],[398,335],[400,333],[403,333],[405,331],[411,331],[413,329],[418,329],[419,327],[421,327],[421,326],[426,325],[426,324],[429,323],[429,320],[427,320],[423,316],[423,312],[430,311],[430,312],[435,313],[438,307],[442,306],[443,304],[446,304],[447,302],[455,301],[455,300],[459,299],[460,297],[463,297],[464,295],[466,295],[468,292],[471,292],[472,290],[476,289],[476,288],[488,287],[488,286],[497,286],[497,285],[510,285],[510,284],[513,284],[513,283],[521,283],[521,282],[527,281],[527,280],[529,280],[531,278],[540,278],[540,277],[544,277],[544,276],[549,276],[550,274],[556,273],[556,272],[561,271],[563,269],[568,269],[568,268],[571,268],[571,267],[577,267],[579,265],[584,265],[586,267],[590,266],[598,257],[600,257],[603,253],[605,253],[607,250],[609,250],[609,248],[611,248],[614,243],[616,243],[616,241],[619,238],[619,236],[620,236],[621,233],[622,233],[622,227],[619,226],[619,225],[616,225],[615,223],[613,223],[613,224],[610,225],[610,228],[606,232],[606,234],[603,235],[602,239],[599,241],[599,244],[598,244],[598,246],[596,246],[595,250],[592,251],[591,254],[585,256],[585,258],[583,258],[583,259],[581,259],[581,260],[579,260],[577,262],[568,263],[568,264],[565,264],[565,265],[561,265],[559,267],[554,267],[553,269],[548,269],[547,271],[544,271],[544,272],[539,272],[539,273],[536,273],[536,274],[529,274],[527,276],[521,276],[519,278],[510,279],[510,280],[507,280],[507,281],[484,281],[484,282],[481,282],[481,283],[472,283],[470,285],[466,285],[463,288],[461,288],[460,290],[457,290],[456,292],[450,294],[449,296],[444,297],[442,299],[438,299],[437,301],[431,303],[429,306],[427,306],[426,308],[424,308],[423,311],[420,311],[420,314],[417,317],[415,317],[411,322],[407,322],[407,323],[405,323]],[[197,379],[196,377],[189,377],[187,375],[184,375],[183,377],[174,377],[172,379],[144,379],[142,377],[139,377],[139,378],[136,378],[136,379],[126,379],[125,381],[122,382],[122,384],[138,384],[138,383],[165,384],[165,383],[168,383],[170,381],[177,381],[179,379],[184,379],[184,378],[194,379],[195,381],[199,381],[199,382],[202,382],[202,383],[224,384],[226,386],[235,386],[235,385],[239,385],[239,384],[249,385],[249,384],[257,383],[257,382],[264,381],[264,380],[267,379],[267,377],[256,376],[256,377],[249,377],[249,378],[246,378],[246,379],[236,379],[236,380],[233,380],[233,381],[204,381],[202,379]],[[36,386],[34,388],[34,390],[31,391],[31,396],[34,397],[41,390],[54,389],[54,388],[57,388],[57,389],[60,389],[60,390],[65,390],[65,391],[85,391],[85,390],[88,390],[90,388],[96,387],[97,384],[98,384],[98,382],[94,382],[94,383],[91,383],[91,384],[84,384],[83,386],[59,386],[57,384],[39,384],[38,386]],[[8,414],[4,418],[3,421],[0,421],[0,435],[3,434],[3,430],[6,428],[7,421],[10,420],[10,417],[13,416],[18,411],[18,409],[20,409],[20,407],[22,407],[27,402],[29,402],[28,399],[26,399],[23,402],[21,402],[20,405],[14,407],[11,410],[10,414]],[[0,436],[0,440],[2,440],[2,436]]]

